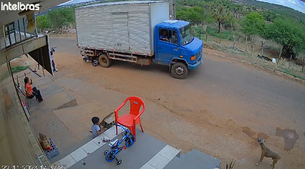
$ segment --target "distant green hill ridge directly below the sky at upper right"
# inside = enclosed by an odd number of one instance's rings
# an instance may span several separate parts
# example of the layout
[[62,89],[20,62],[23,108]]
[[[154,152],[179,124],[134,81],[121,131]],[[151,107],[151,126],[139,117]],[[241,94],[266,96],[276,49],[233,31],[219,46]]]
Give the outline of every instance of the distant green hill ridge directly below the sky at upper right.
[[261,9],[268,9],[270,11],[274,11],[279,15],[285,15],[285,16],[290,16],[297,21],[304,21],[305,22],[305,14],[299,11],[296,11],[292,8],[282,6],[282,5],[276,5],[276,4],[271,4],[267,2],[261,2],[261,1],[256,1],[256,0],[238,0],[239,2],[248,4],[248,5],[254,5],[258,8]]

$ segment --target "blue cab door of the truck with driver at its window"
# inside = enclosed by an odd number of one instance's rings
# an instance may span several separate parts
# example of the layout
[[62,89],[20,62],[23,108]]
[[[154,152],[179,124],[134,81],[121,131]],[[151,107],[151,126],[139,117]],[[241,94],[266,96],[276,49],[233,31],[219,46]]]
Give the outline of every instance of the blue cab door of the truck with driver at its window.
[[[172,42],[171,36],[175,35],[176,40]],[[163,39],[165,38],[165,39]],[[177,31],[172,29],[159,28],[159,37],[157,40],[157,56],[158,64],[169,65],[173,57],[180,56],[179,37]]]

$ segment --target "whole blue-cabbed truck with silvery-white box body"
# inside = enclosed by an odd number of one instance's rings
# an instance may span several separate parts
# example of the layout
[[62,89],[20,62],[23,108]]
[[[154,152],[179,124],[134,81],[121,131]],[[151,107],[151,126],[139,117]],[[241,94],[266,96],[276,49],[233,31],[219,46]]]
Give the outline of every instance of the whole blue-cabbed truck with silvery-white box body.
[[112,60],[162,64],[185,79],[203,61],[202,41],[189,22],[169,19],[169,1],[106,2],[74,12],[77,46],[93,66],[109,67]]

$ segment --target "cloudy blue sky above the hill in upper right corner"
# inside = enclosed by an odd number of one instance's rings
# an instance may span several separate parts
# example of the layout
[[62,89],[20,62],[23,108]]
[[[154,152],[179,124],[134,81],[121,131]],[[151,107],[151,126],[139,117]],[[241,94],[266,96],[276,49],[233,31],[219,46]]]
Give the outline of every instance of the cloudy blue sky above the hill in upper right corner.
[[305,2],[300,0],[259,0],[259,1],[287,6],[289,8],[305,13]]

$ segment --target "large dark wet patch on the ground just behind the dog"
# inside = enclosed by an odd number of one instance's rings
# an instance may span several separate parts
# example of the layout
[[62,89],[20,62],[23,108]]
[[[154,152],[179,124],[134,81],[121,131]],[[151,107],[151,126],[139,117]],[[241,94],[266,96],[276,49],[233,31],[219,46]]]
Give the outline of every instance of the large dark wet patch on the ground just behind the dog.
[[299,134],[296,133],[296,130],[280,129],[279,127],[276,128],[275,136],[284,137],[284,149],[286,151],[290,151],[294,147],[296,140],[299,139]]

